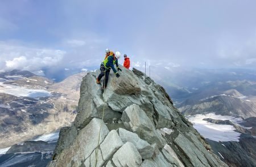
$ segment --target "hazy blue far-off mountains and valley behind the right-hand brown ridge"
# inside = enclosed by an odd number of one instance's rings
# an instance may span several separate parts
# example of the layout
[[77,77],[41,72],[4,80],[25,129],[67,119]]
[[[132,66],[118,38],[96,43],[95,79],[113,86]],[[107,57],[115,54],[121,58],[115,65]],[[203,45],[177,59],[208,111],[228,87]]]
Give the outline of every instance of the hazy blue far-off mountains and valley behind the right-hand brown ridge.
[[256,95],[256,71],[253,70],[177,68],[170,71],[162,68],[161,71],[152,72],[152,77],[163,85],[175,104],[221,95],[229,89],[236,89],[245,96]]

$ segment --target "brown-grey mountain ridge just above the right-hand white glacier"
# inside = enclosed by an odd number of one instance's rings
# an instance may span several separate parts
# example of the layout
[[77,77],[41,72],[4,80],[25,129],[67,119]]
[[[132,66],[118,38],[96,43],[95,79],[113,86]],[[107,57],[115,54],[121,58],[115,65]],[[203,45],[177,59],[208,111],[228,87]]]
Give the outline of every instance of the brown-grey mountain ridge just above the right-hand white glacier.
[[[230,91],[231,92],[231,91]],[[239,95],[238,91],[236,91]],[[255,97],[217,95],[204,100],[186,100],[177,105],[184,115],[215,113],[221,115],[256,117]]]

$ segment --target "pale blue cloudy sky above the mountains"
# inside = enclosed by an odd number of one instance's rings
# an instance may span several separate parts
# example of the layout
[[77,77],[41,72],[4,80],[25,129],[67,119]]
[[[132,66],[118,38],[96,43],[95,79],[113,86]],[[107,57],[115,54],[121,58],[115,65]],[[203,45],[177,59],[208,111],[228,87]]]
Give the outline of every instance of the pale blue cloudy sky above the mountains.
[[255,18],[256,1],[3,0],[0,70],[98,67],[106,48],[133,67],[255,69]]

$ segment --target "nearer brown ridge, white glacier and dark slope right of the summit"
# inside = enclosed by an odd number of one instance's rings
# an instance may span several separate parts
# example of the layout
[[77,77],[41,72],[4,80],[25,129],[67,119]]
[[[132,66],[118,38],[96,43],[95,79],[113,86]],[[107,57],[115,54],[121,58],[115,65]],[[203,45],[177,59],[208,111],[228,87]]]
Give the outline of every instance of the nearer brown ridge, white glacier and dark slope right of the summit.
[[[207,138],[216,155],[227,164],[255,166],[255,96],[241,96],[236,90],[224,93],[199,101],[186,100],[177,108]],[[216,115],[219,116],[216,118]]]

